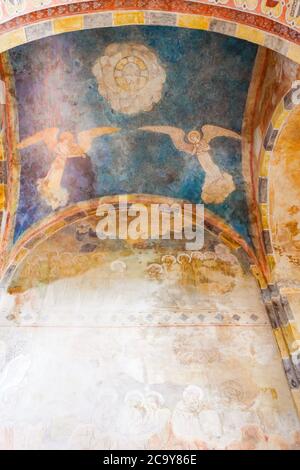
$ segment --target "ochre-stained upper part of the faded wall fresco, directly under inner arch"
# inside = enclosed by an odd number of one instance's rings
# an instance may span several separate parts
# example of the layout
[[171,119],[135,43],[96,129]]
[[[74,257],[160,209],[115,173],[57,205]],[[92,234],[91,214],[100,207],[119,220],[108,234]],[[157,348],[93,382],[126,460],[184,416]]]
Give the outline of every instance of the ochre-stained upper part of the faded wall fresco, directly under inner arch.
[[[203,249],[189,251],[186,250],[185,239],[160,240],[159,243],[151,239],[129,239],[126,243],[122,240],[100,240],[96,234],[98,222],[97,216],[90,216],[67,225],[42,243],[38,243],[30,250],[30,256],[20,263],[8,291],[25,293],[34,287],[76,277],[95,268],[102,270],[104,276],[107,271],[116,271],[117,278],[120,271],[123,273],[124,283],[122,310],[128,309],[130,312],[134,307],[128,304],[128,299],[126,301],[128,291],[125,284],[131,275],[126,268],[127,259],[128,262],[133,262],[132,257],[138,259],[138,264],[133,263],[134,276],[142,276],[146,280],[165,280],[174,292],[182,285],[189,286],[191,302],[195,297],[198,308],[201,303],[204,306],[204,298],[209,296],[209,293],[229,294],[234,290],[247,289],[245,273],[249,271],[249,262],[245,255],[239,254],[238,259],[228,246],[207,230]],[[118,256],[122,259],[120,264],[115,262]],[[239,277],[241,282],[238,282]],[[95,282],[97,284],[97,281]],[[91,281],[91,285],[95,282]],[[254,279],[251,279],[250,284],[252,283],[255,285]],[[103,280],[99,282],[98,289],[102,289],[100,284],[103,284]],[[163,287],[160,295],[166,295],[163,283],[158,285]],[[106,297],[106,287],[103,286],[103,289],[103,295]],[[147,312],[147,305],[150,306],[153,302],[148,295],[146,297],[143,310]],[[180,295],[178,300],[179,298]],[[156,300],[158,305],[163,306],[163,298],[157,297]],[[180,305],[176,308],[180,311]],[[253,312],[255,308],[254,304]]]

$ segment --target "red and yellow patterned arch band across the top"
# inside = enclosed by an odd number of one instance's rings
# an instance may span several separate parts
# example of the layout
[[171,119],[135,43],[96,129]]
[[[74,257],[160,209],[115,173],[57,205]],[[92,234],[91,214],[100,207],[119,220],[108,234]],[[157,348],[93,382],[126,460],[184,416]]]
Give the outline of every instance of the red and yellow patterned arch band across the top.
[[40,10],[0,25],[0,52],[54,34],[125,25],[213,31],[268,47],[300,63],[300,32],[269,18],[184,0],[89,1]]

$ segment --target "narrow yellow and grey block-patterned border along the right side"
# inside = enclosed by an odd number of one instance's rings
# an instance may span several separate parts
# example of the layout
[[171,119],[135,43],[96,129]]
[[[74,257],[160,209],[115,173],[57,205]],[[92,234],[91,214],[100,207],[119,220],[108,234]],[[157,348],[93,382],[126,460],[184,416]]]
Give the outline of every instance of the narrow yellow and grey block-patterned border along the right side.
[[262,288],[262,297],[282,357],[283,367],[286,372],[291,393],[300,415],[300,331],[288,300],[284,297],[280,286],[277,286],[277,284],[272,281],[272,273],[274,273],[276,261],[272,244],[269,213],[269,167],[271,157],[280,132],[289,118],[290,113],[296,106],[292,99],[294,93],[295,88],[290,88],[277,104],[269,126],[262,138],[257,202],[262,230],[261,239],[263,240],[271,275],[268,286]]

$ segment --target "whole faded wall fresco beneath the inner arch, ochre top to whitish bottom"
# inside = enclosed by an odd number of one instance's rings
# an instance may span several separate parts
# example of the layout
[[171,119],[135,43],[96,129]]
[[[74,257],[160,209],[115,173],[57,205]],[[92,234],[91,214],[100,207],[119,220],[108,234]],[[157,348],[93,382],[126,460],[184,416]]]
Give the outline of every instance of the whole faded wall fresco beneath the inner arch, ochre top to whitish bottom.
[[187,253],[93,230],[41,243],[1,296],[0,448],[299,449],[240,255],[210,233]]

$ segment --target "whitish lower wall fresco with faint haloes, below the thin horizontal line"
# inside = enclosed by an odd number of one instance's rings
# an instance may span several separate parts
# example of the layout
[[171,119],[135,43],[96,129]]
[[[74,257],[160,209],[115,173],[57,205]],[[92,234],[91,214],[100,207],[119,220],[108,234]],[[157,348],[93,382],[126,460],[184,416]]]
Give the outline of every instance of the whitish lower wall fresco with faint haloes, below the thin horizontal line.
[[271,331],[236,330],[2,329],[0,448],[299,449]]

